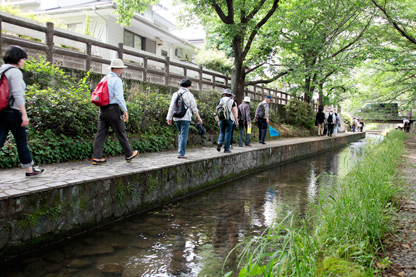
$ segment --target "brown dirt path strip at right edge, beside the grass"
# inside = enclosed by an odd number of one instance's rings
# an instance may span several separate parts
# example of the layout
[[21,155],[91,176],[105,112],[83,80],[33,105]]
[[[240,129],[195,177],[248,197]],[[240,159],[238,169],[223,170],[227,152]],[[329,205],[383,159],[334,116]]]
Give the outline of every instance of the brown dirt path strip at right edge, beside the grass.
[[[405,180],[404,197],[400,199],[399,212],[394,217],[397,232],[386,238],[388,247],[381,259],[388,257],[391,264],[381,272],[382,276],[416,277],[416,137],[406,141],[408,153],[401,165]],[[377,266],[382,269],[386,263]]]

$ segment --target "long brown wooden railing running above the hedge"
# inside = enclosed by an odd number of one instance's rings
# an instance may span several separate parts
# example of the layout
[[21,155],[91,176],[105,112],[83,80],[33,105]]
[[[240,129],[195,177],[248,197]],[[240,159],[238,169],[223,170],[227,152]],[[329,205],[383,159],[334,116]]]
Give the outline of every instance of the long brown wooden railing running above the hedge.
[[[25,39],[28,37],[29,39]],[[24,47],[29,56],[46,57],[46,60],[61,67],[106,73],[104,65],[111,59],[121,58],[128,68],[124,77],[151,83],[177,86],[180,79],[188,77],[196,89],[222,90],[230,87],[230,77],[189,62],[171,60],[169,57],[146,53],[134,48],[103,43],[91,37],[36,21],[18,18],[0,12],[0,50],[3,54],[9,45]],[[246,87],[245,95],[261,100],[266,95],[274,103],[285,105],[291,96],[277,89],[262,85]],[[302,99],[303,98],[299,98]],[[316,104],[314,104],[316,109]]]

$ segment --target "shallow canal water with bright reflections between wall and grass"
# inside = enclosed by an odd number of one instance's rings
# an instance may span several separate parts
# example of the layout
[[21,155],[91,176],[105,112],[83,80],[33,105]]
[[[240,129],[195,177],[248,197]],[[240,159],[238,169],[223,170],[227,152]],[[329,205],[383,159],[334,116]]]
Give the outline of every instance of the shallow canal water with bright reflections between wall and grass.
[[229,255],[230,251],[288,212],[304,216],[320,189],[335,185],[329,175],[347,174],[364,144],[366,140],[361,140],[243,176],[1,264],[0,275],[108,276],[103,272],[113,272],[114,276],[162,277],[236,272],[237,254]]

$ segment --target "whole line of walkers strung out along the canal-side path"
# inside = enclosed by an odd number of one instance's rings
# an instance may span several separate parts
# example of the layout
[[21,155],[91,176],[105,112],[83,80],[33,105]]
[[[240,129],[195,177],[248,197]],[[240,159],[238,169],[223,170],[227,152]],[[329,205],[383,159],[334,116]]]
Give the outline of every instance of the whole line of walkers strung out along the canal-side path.
[[[0,68],[0,75],[5,76],[10,87],[9,98],[6,107],[1,108],[0,112],[0,148],[3,147],[9,131],[12,132],[17,146],[18,156],[22,168],[26,171],[26,176],[35,176],[43,173],[45,170],[34,166],[31,157],[27,137],[26,126],[29,119],[25,108],[25,83],[22,72],[27,59],[26,52],[19,46],[10,46],[4,57],[4,64]],[[125,123],[129,120],[126,101],[123,95],[123,82],[120,78],[123,69],[126,68],[121,59],[114,59],[109,66],[110,73],[103,79],[108,85],[109,104],[101,106],[98,115],[98,130],[94,140],[93,165],[100,165],[106,162],[103,158],[103,145],[107,137],[109,127],[114,130],[120,145],[122,146],[126,162],[131,162],[139,156],[138,150],[133,150],[127,135]],[[188,141],[189,127],[194,114],[200,126],[203,121],[198,112],[197,103],[194,95],[189,90],[192,82],[188,78],[183,78],[179,83],[180,89],[172,95],[169,110],[166,116],[168,125],[175,122],[178,129],[178,158],[186,158],[186,145]],[[186,112],[183,116],[175,116],[177,113],[178,97],[181,97]],[[233,132],[239,128],[238,146],[251,145],[252,118],[250,111],[250,97],[246,96],[240,105],[234,100],[235,95],[230,89],[221,92],[221,98],[217,102],[215,118],[218,121],[219,136],[217,140],[217,150],[224,148],[224,153],[231,153],[233,149]],[[259,143],[266,144],[266,134],[269,125],[269,103],[272,97],[267,95],[256,108],[254,122],[259,129]],[[336,136],[340,126],[340,119],[337,113],[331,111],[327,116],[322,109],[316,114],[316,123],[318,127],[318,136]],[[202,127],[201,127],[202,128]],[[355,128],[353,128],[355,131]],[[244,139],[245,137],[245,139]]]

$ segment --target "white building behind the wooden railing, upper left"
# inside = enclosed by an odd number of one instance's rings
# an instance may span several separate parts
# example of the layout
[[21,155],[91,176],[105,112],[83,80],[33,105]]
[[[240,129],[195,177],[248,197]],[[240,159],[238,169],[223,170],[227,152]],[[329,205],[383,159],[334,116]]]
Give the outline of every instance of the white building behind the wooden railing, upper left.
[[18,5],[22,11],[57,17],[72,31],[84,33],[89,26],[91,36],[116,46],[123,43],[126,49],[187,62],[193,62],[196,55],[195,45],[171,33],[177,28],[158,12],[166,10],[162,5],[149,6],[143,14],[134,16],[131,26],[123,27],[117,24],[118,15],[113,13],[116,4],[111,0],[9,0],[8,3]]

